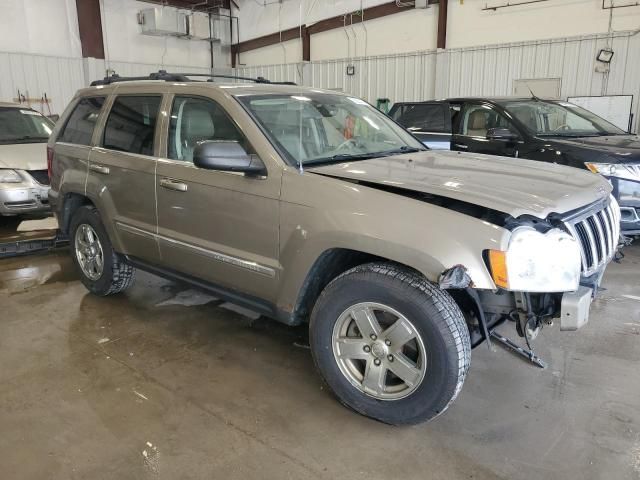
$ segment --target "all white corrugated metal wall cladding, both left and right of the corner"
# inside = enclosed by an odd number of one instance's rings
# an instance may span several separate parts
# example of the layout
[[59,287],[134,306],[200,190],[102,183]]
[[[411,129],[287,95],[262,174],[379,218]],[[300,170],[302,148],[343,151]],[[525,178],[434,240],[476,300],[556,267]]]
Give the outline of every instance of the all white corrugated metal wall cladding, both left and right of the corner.
[[[615,55],[611,71],[605,75],[595,71],[595,58],[607,43]],[[349,64],[355,67],[352,76],[346,75]],[[161,68],[158,64],[114,61],[109,62],[109,67],[123,76],[145,75]],[[174,72],[209,72],[206,66],[164,68]],[[18,90],[25,95],[28,92],[32,98],[40,98],[46,92],[52,112],[60,113],[78,88],[104,76],[105,69],[102,60],[0,52],[0,101],[13,100]],[[341,90],[370,102],[378,98],[398,102],[459,95],[510,95],[516,79],[556,77],[562,82],[562,98],[633,95],[635,117],[640,113],[640,35],[632,32],[350,61],[244,67],[235,73]],[[634,121],[634,129],[637,126]]]

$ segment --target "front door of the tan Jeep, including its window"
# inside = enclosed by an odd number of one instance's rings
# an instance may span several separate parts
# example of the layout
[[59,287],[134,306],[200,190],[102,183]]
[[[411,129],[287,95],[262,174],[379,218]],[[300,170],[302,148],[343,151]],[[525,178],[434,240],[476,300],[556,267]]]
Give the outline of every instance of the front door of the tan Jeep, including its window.
[[170,111],[167,158],[156,175],[163,266],[241,295],[275,298],[280,172],[256,178],[196,167],[200,141],[238,141],[256,152],[210,98],[176,95]]

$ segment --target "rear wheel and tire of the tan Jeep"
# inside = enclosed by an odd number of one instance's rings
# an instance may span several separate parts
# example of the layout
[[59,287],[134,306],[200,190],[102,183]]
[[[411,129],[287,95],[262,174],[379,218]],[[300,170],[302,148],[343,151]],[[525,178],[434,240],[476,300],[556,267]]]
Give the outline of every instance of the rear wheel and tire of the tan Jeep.
[[95,295],[119,293],[134,281],[135,268],[113,250],[94,206],[78,208],[71,218],[69,243],[80,281]]

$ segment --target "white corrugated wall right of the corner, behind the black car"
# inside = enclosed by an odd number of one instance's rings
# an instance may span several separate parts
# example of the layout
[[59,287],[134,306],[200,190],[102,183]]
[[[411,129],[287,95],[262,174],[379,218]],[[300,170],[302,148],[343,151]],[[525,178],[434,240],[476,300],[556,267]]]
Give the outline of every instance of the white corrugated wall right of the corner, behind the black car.
[[[608,75],[595,71],[598,51],[615,52]],[[347,65],[355,74],[346,75]],[[338,89],[369,102],[431,100],[462,95],[511,95],[513,81],[560,78],[561,97],[633,95],[634,131],[640,113],[640,35],[618,32],[444,51],[424,51],[308,64],[236,69],[238,75]]]

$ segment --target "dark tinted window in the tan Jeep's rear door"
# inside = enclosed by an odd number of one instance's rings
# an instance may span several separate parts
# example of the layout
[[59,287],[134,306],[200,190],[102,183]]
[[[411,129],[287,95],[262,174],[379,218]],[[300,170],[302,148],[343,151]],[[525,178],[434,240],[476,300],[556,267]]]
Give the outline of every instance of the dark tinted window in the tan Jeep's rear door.
[[153,140],[162,96],[123,95],[113,102],[102,146],[119,152],[153,155]]

